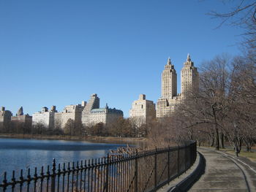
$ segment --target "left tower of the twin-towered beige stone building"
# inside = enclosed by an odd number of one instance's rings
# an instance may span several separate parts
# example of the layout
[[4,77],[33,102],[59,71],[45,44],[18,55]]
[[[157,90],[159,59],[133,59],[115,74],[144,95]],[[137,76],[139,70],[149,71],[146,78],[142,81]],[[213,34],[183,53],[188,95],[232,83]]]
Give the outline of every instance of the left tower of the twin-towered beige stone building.
[[172,99],[177,95],[177,74],[174,65],[171,64],[168,58],[165,69],[162,72],[162,98]]

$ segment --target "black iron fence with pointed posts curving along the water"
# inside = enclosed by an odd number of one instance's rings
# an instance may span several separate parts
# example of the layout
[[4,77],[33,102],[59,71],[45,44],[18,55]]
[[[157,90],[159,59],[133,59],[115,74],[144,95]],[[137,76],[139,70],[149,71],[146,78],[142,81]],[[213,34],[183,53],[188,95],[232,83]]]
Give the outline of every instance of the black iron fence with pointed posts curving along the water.
[[51,167],[28,169],[26,175],[23,170],[13,171],[10,180],[4,172],[0,191],[157,191],[194,164],[196,147],[196,142],[190,142],[62,165],[53,159]]

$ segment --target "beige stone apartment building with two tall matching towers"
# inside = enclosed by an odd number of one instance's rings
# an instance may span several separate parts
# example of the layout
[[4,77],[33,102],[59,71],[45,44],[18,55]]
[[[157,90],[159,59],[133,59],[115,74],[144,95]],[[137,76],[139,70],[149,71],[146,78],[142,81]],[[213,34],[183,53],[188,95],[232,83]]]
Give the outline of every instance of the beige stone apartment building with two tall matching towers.
[[178,104],[184,101],[190,93],[198,91],[199,75],[197,68],[187,55],[187,61],[181,69],[181,93],[177,93],[177,74],[174,65],[168,58],[162,72],[162,96],[157,101],[157,118],[173,114]]

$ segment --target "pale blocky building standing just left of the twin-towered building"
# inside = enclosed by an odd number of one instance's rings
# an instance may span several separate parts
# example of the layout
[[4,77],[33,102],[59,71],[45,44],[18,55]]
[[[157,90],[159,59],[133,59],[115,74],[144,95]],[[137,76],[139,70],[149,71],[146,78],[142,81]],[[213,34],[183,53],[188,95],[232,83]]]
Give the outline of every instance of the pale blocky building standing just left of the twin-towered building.
[[142,126],[156,118],[156,106],[153,101],[146,100],[146,95],[140,94],[139,99],[132,102],[129,118],[136,126]]

